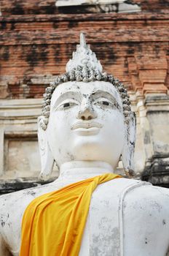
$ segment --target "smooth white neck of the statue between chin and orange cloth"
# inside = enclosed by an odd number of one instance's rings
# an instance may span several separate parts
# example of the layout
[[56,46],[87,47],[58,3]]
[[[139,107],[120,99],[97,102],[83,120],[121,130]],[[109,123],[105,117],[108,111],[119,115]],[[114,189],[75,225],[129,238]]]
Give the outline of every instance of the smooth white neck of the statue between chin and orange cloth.
[[113,168],[107,162],[71,161],[60,166],[60,175],[58,178],[76,182],[99,176],[103,173],[113,173]]

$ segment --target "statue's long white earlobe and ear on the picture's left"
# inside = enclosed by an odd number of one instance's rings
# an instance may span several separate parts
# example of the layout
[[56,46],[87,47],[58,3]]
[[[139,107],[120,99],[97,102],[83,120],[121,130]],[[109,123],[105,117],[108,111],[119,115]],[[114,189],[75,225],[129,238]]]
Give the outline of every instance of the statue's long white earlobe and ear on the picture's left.
[[50,178],[52,173],[52,168],[54,165],[54,159],[52,157],[52,152],[50,146],[47,142],[47,132],[42,129],[44,116],[39,116],[38,118],[38,143],[41,158],[41,173],[39,178],[42,180],[47,180]]

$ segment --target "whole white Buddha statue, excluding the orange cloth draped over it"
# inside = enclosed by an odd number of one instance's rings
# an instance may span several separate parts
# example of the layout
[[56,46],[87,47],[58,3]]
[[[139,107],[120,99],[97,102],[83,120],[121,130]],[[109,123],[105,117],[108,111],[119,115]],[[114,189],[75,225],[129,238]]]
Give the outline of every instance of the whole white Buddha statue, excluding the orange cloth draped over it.
[[94,190],[79,256],[169,255],[169,190],[130,178],[135,145],[130,99],[122,83],[103,72],[83,34],[66,73],[46,89],[38,138],[41,178],[50,177],[54,162],[60,175],[50,184],[0,197],[1,256],[20,254],[23,214],[34,198],[114,173],[119,159],[128,178]]

